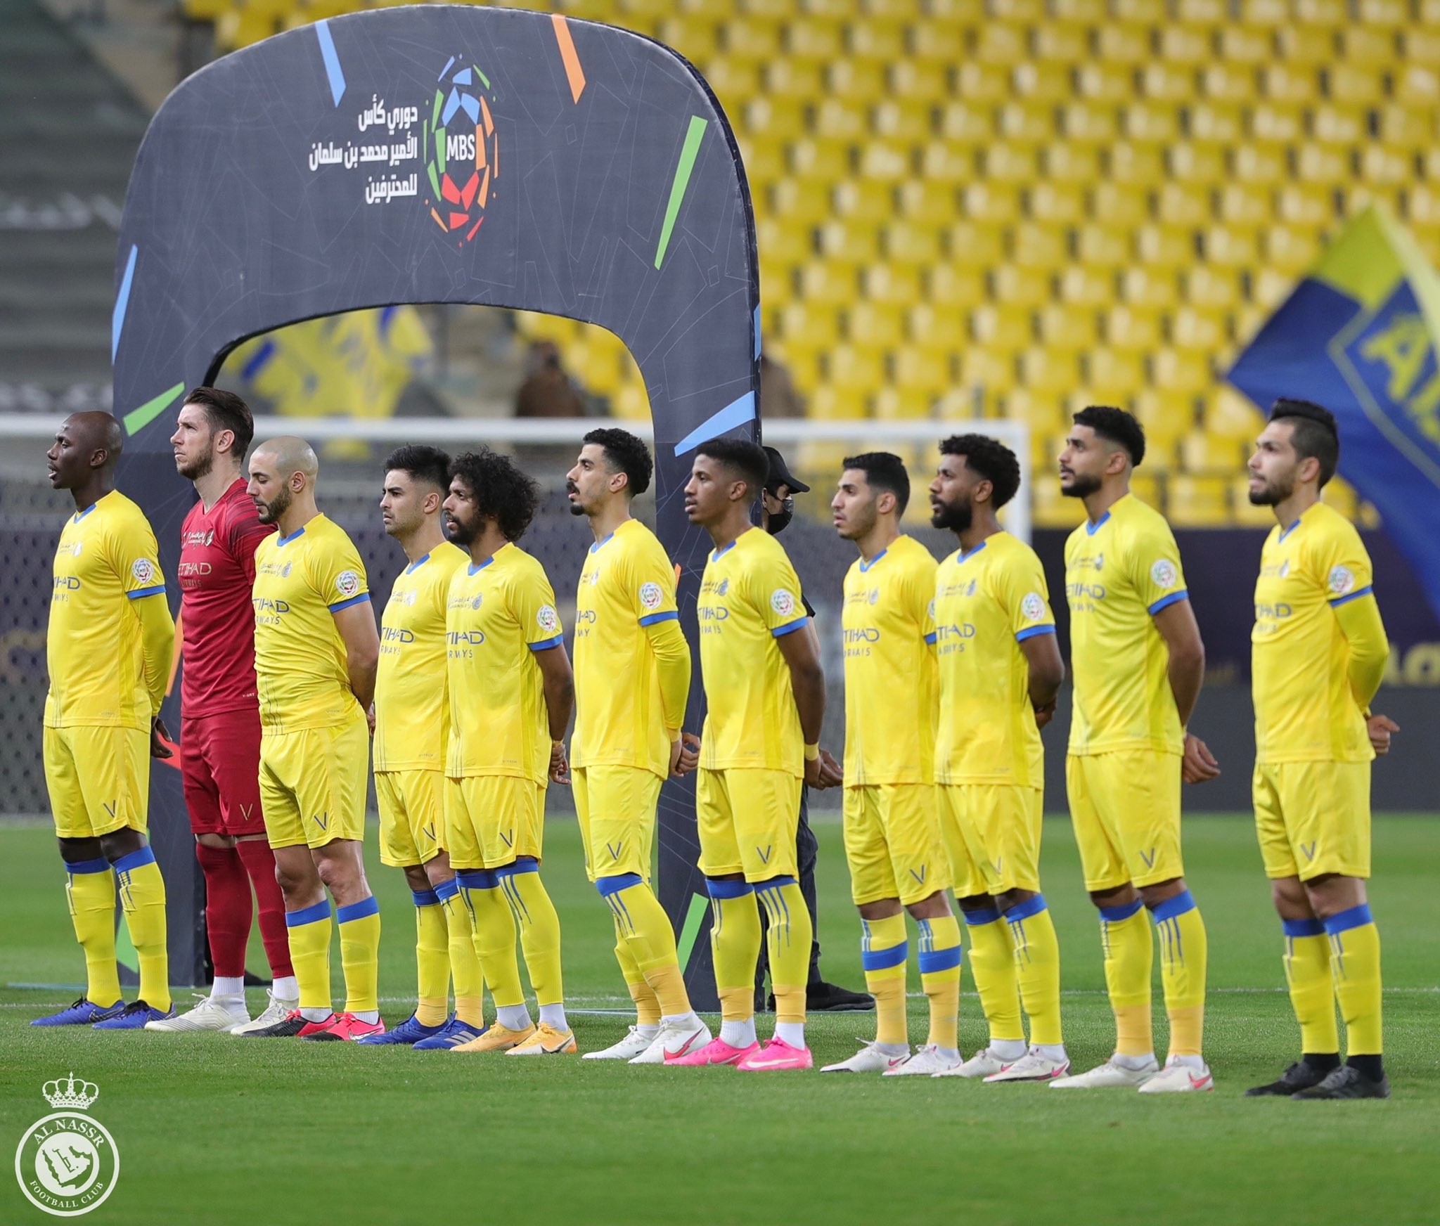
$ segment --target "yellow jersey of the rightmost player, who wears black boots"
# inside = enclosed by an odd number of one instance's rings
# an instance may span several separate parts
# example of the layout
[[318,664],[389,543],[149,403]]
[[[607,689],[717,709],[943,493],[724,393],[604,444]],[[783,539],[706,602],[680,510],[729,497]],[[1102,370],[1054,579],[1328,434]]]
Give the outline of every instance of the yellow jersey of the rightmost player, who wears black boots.
[[1316,502],[1276,524],[1260,554],[1250,672],[1256,761],[1369,761],[1365,712],[1349,686],[1349,646],[1332,610],[1374,599],[1355,525]]

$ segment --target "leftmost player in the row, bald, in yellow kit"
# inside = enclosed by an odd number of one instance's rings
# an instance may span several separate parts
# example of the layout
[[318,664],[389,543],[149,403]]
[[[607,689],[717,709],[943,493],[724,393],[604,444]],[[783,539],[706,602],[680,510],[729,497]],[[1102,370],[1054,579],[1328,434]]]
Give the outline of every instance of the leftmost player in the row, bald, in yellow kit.
[[[150,758],[168,758],[160,702],[174,622],[156,534],[115,489],[125,436],[109,413],[73,413],[46,452],[50,485],[75,514],[55,550],[46,665],[45,783],[68,875],[65,895],[85,951],[85,994],[33,1026],[138,1030],[173,1017],[166,884],[145,839]],[[115,886],[140,958],[125,1004],[115,968]]]

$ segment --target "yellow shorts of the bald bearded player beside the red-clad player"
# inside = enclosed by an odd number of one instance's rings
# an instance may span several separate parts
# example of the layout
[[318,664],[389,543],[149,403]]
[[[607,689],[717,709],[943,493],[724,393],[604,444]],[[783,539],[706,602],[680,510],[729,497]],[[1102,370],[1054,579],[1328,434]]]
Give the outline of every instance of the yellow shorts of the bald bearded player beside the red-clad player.
[[370,735],[364,715],[333,728],[261,734],[261,812],[272,848],[364,840]]

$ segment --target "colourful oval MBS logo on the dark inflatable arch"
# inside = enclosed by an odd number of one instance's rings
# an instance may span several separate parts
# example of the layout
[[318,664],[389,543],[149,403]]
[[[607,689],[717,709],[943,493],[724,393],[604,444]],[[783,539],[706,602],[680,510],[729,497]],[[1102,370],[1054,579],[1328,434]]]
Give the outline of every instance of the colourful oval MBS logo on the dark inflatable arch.
[[435,224],[455,235],[458,246],[475,237],[500,178],[500,132],[487,96],[491,92],[490,78],[477,65],[451,56],[431,106],[425,173],[433,196],[425,203]]

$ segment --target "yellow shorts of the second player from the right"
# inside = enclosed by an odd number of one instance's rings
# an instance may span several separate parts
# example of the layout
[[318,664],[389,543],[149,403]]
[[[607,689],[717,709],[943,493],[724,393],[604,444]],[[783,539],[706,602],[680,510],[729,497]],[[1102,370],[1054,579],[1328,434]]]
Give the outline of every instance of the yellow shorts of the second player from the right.
[[1184,876],[1179,754],[1116,750],[1066,758],[1070,820],[1089,891]]

